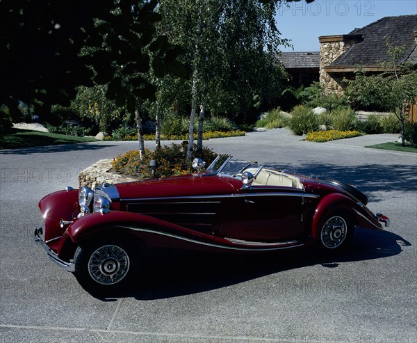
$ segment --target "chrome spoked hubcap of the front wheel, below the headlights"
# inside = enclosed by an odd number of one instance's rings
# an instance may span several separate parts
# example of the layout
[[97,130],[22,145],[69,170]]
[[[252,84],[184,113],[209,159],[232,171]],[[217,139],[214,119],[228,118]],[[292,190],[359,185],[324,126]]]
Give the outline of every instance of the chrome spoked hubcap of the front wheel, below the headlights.
[[129,271],[129,256],[119,246],[101,246],[91,254],[88,273],[101,285],[113,285]]

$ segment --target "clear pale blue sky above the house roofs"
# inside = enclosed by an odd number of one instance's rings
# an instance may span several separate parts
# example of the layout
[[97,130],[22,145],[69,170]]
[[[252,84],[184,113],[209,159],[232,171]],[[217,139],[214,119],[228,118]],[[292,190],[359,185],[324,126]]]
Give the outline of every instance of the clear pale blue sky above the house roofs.
[[277,10],[277,27],[282,38],[292,40],[294,49],[318,51],[320,35],[341,35],[383,17],[417,14],[417,0],[304,0]]

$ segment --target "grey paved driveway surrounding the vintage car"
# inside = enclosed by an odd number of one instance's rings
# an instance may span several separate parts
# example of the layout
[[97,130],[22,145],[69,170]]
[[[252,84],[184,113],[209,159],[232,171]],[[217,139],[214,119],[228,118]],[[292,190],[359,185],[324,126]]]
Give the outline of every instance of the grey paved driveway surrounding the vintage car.
[[138,292],[106,301],[33,243],[37,203],[136,143],[3,150],[0,342],[417,342],[417,155],[364,147],[394,138],[308,143],[275,129],[206,142],[237,159],[357,184],[393,225],[357,231],[352,251],[332,259],[144,261]]

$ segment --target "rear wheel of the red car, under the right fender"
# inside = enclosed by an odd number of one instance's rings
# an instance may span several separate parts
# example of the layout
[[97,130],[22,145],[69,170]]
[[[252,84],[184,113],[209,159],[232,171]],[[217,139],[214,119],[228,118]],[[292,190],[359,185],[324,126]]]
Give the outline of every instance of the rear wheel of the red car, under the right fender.
[[349,216],[336,212],[325,218],[318,241],[322,250],[336,252],[343,250],[352,240],[354,226]]

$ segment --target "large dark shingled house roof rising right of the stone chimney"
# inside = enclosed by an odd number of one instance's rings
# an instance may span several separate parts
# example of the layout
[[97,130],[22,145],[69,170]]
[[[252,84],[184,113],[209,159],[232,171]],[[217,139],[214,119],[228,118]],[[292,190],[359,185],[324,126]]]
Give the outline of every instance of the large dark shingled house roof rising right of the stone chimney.
[[390,61],[390,56],[387,54],[386,37],[389,37],[394,46],[407,45],[402,62],[417,63],[415,31],[417,31],[417,15],[384,17],[362,29],[354,29],[349,34],[361,35],[362,38],[329,66],[363,65],[365,67],[366,65],[377,66],[382,62]]

